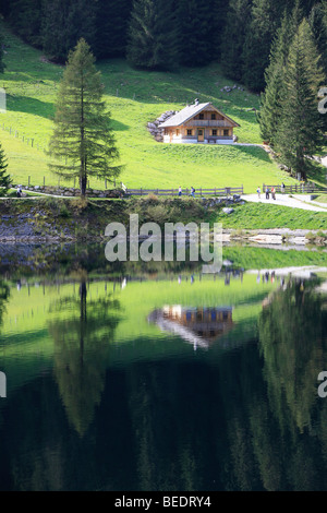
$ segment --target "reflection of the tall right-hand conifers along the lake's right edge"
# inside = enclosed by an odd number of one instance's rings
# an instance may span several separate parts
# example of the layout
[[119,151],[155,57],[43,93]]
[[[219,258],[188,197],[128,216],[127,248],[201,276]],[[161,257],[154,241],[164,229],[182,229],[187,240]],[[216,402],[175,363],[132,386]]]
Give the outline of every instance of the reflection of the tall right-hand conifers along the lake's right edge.
[[258,322],[269,408],[282,444],[279,458],[290,488],[300,490],[326,487],[317,468],[327,463],[327,403],[317,396],[317,375],[327,363],[327,311],[314,287],[289,283]]

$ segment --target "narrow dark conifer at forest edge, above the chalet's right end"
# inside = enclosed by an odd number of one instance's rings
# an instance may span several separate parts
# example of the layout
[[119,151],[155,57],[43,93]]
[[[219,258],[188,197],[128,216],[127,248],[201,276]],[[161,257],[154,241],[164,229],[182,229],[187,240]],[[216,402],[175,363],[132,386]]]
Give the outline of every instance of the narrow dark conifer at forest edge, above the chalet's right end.
[[230,3],[221,41],[222,70],[230,79],[243,76],[243,48],[246,25],[251,20],[252,0],[234,0]]

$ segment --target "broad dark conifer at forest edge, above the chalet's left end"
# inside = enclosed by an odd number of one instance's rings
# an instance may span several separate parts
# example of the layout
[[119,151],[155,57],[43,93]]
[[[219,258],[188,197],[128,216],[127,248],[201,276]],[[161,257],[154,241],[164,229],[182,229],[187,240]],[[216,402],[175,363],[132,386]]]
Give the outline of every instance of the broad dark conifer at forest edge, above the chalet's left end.
[[126,57],[135,67],[172,69],[179,61],[172,0],[134,0]]

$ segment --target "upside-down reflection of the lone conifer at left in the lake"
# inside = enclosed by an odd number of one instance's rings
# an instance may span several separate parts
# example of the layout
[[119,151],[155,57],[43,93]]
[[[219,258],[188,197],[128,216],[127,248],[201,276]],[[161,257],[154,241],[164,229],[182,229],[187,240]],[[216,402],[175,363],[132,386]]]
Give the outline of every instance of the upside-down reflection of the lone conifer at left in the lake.
[[111,296],[87,300],[85,277],[81,279],[78,297],[64,298],[57,308],[62,305],[73,313],[49,326],[55,341],[55,377],[68,418],[83,436],[101,399],[120,307]]

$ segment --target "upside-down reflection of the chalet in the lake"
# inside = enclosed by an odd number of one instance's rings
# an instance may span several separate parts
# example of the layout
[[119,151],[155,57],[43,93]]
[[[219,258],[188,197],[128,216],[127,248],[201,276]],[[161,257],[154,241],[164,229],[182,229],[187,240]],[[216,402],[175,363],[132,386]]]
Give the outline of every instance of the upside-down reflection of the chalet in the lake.
[[193,344],[194,349],[208,348],[234,324],[231,307],[187,308],[180,305],[155,310],[148,321]]

